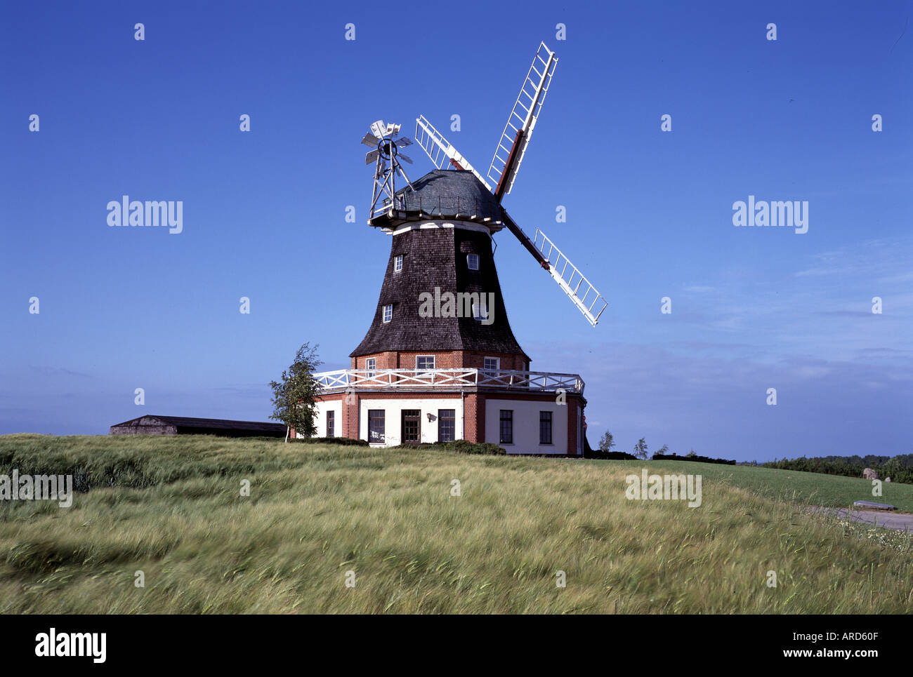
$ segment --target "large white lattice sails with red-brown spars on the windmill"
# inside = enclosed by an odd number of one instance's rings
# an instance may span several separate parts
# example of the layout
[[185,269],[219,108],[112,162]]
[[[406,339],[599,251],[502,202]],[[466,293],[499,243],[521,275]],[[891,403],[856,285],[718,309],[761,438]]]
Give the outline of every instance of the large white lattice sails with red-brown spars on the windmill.
[[415,120],[415,141],[438,170],[453,167],[475,175],[488,193],[494,195],[500,211],[500,221],[517,236],[520,244],[526,247],[540,266],[549,272],[574,306],[581,311],[583,317],[595,327],[603,310],[608,306],[605,298],[546,234],[537,228],[530,239],[501,206],[504,195],[510,193],[517,179],[520,163],[529,147],[532,131],[536,126],[536,120],[539,119],[557,64],[558,57],[555,53],[546,47],[544,42],[541,43],[536,56],[532,59],[530,71],[520,87],[513,109],[510,110],[507,124],[501,132],[498,146],[488,167],[487,177],[483,177],[466,157],[425,119],[424,115],[419,115]]

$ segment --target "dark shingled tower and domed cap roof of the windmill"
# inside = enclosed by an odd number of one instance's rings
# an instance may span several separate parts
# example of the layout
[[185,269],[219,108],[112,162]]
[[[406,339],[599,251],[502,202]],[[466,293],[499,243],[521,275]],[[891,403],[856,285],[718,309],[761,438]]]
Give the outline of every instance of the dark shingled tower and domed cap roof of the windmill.
[[[471,172],[430,172],[413,185],[421,195],[440,195],[442,199],[458,196],[461,206],[466,200],[477,201],[490,210],[489,214],[500,210]],[[428,221],[428,217],[408,221]],[[469,270],[468,254],[478,255],[478,270]],[[397,255],[403,255],[403,269],[394,272]],[[493,322],[486,325],[472,317],[420,317],[419,299],[424,293],[434,295],[435,287],[441,294],[494,294],[488,309]],[[394,313],[392,320],[384,323],[383,307],[387,305],[394,307]],[[349,357],[396,350],[461,349],[519,353],[529,359],[510,330],[490,235],[459,227],[415,228],[394,235],[371,328]]]

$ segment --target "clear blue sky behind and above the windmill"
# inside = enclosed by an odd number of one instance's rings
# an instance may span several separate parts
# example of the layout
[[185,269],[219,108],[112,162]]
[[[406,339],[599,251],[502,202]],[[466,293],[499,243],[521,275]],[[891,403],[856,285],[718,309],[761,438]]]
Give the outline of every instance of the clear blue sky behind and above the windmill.
[[[524,6],[5,5],[0,433],[266,421],[301,343],[347,367],[390,246],[364,224],[368,125],[424,114],[487,168],[544,40],[504,203],[609,307],[591,328],[507,231],[496,262],[533,369],[586,381],[590,442],[913,452],[913,3]],[[183,201],[184,232],[109,227],[123,194]],[[749,195],[807,201],[808,232],[733,226]]]

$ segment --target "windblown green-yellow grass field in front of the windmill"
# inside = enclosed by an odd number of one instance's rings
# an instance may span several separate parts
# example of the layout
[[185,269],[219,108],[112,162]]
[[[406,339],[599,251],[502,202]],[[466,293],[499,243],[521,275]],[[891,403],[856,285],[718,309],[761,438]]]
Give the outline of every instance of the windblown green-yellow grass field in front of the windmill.
[[[643,467],[702,474],[702,505],[628,501],[624,475]],[[70,508],[0,504],[4,613],[913,609],[908,536],[885,545],[797,505],[871,496],[869,483],[844,477],[212,437],[2,436],[0,474],[13,468],[73,474],[89,491]],[[887,485],[883,498],[909,509],[911,488]]]

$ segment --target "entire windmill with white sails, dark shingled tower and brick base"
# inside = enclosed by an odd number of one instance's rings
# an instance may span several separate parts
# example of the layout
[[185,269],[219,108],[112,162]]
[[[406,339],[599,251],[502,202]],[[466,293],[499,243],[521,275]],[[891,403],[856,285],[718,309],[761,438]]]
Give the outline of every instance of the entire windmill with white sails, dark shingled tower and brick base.
[[[390,235],[373,318],[351,368],[314,374],[321,431],[400,443],[497,443],[507,453],[582,456],[586,398],[579,374],[533,370],[510,328],[494,234],[517,235],[593,324],[608,305],[551,240],[530,240],[501,205],[517,177],[557,59],[542,45],[498,150],[482,176],[424,117],[415,141],[435,169],[415,181],[400,161],[412,141],[378,120],[362,142],[375,163],[368,225]],[[394,181],[402,176],[406,186]],[[369,243],[372,255],[376,245]],[[367,293],[367,289],[363,289]],[[544,313],[542,309],[533,312]]]

